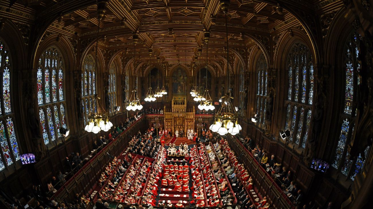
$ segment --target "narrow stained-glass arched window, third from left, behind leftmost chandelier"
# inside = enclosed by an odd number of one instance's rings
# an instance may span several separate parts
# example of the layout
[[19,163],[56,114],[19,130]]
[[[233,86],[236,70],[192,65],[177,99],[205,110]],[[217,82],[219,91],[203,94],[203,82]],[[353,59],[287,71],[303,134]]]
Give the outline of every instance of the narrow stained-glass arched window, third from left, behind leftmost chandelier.
[[[84,113],[84,125],[87,124],[88,115],[93,112],[92,100],[96,94],[96,67],[95,60],[87,55],[83,62],[82,69],[82,101]],[[89,103],[89,101],[91,101]]]

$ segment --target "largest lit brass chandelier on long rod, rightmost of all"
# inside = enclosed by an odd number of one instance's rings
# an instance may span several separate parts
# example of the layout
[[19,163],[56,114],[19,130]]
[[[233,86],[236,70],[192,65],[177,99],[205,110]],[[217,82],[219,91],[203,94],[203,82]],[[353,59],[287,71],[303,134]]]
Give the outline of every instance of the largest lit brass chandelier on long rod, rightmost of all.
[[232,104],[233,97],[229,96],[229,48],[228,48],[228,24],[227,24],[227,12],[229,7],[229,0],[220,0],[220,7],[225,14],[225,29],[226,29],[226,44],[227,44],[227,94],[221,98],[222,106],[215,113],[215,121],[209,127],[213,132],[217,132],[220,135],[231,134],[236,135],[242,129],[238,124],[238,114],[235,107]]

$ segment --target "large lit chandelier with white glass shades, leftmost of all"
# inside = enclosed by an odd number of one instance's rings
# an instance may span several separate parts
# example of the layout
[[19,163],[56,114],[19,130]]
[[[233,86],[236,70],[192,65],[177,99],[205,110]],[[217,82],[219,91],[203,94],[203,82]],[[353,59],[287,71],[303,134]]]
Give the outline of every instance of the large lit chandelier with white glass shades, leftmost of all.
[[[97,5],[97,8],[101,8],[105,5]],[[104,8],[104,7],[103,7]],[[98,31],[100,29],[100,22],[103,18],[103,14],[100,13],[102,10],[98,10],[98,25],[97,25],[97,33],[96,33],[96,49],[95,49],[95,69],[97,70],[97,48],[98,48]],[[102,131],[109,131],[110,128],[113,126],[113,123],[109,121],[109,114],[105,111],[103,106],[98,102],[100,97],[97,96],[97,94],[94,95],[92,109],[93,112],[88,115],[88,124],[84,127],[84,130],[87,132],[93,132],[94,134],[97,134],[98,132]]]

